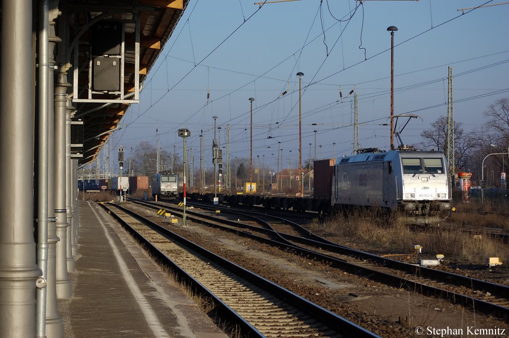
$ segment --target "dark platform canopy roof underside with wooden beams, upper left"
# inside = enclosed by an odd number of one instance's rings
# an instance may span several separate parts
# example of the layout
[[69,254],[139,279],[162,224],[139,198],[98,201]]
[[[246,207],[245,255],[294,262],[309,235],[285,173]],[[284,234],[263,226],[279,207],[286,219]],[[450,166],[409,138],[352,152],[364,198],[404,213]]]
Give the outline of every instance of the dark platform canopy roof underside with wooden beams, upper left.
[[[172,36],[189,0],[64,0],[58,2],[60,16],[55,18],[56,35],[67,43],[67,53],[77,46],[78,65],[86,64],[90,57],[91,33],[87,26],[98,20],[119,21],[124,23],[126,46],[135,41],[136,16],[140,18],[139,26],[139,87],[156,62],[163,46]],[[54,3],[57,3],[56,1]],[[62,37],[62,23],[65,22],[65,37]],[[64,42],[64,41],[63,41]],[[61,42],[61,43],[63,43]],[[70,48],[70,46],[73,46]],[[57,49],[58,49],[57,45]],[[58,53],[58,51],[57,51]],[[133,98],[135,89],[135,52],[133,48],[125,49],[124,97]],[[59,58],[57,57],[57,63]],[[70,61],[69,81],[73,82],[73,57]],[[60,58],[62,60],[62,58]],[[89,86],[89,67],[79,68],[78,98],[86,98]],[[73,84],[73,83],[71,83]],[[72,93],[70,89],[68,93]],[[75,91],[76,93],[76,91]],[[131,95],[129,95],[131,94]],[[105,96],[106,98],[106,96]],[[73,98],[74,99],[74,98]],[[111,133],[119,129],[119,123],[131,103],[97,103],[75,102],[73,116],[83,121],[83,157],[79,164],[92,162]]]

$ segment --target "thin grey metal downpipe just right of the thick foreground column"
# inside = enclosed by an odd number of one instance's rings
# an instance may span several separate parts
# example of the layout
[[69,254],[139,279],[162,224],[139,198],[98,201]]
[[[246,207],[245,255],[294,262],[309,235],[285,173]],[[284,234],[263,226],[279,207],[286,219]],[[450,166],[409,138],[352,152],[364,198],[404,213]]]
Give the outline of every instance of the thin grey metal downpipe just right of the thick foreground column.
[[38,285],[36,298],[36,336],[46,336],[46,282],[48,275],[48,91],[49,91],[49,5],[40,2],[39,8],[39,126],[37,154],[37,265],[44,284]]

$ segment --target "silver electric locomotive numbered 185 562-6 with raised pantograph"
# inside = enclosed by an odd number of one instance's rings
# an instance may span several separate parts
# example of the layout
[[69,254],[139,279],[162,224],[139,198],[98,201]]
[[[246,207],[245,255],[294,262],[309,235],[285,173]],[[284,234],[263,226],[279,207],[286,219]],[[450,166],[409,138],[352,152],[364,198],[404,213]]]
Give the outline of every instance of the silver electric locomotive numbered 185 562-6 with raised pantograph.
[[331,206],[378,207],[409,223],[436,223],[451,208],[446,163],[438,151],[361,149],[334,165]]

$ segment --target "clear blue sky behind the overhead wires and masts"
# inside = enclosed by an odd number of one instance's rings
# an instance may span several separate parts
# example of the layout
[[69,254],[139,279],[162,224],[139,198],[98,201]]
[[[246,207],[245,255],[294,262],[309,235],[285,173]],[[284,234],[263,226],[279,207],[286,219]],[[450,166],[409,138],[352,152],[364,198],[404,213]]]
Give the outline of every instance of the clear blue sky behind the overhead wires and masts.
[[[292,150],[295,167],[299,147],[296,73],[303,72],[303,161],[309,156],[309,143],[314,157],[315,129],[317,157],[319,145],[322,158],[332,157],[333,143],[336,158],[352,153],[353,95],[348,93],[354,86],[361,148],[388,150],[389,127],[382,124],[389,122],[390,115],[390,34],[386,29],[391,25],[398,27],[394,114],[410,112],[423,120],[410,122],[402,133],[404,142],[419,143],[421,130],[447,114],[449,65],[454,75],[455,120],[471,131],[483,124],[482,113],[489,104],[509,96],[509,5],[463,15],[457,11],[486,2],[364,1],[359,6],[353,0],[322,4],[301,0],[265,4],[260,9],[245,0],[191,0],[144,83],[140,103],[131,105],[121,121],[122,130],[110,137],[113,148],[130,149],[142,141],[155,146],[158,128],[161,147],[173,151],[174,145],[182,147],[177,130],[187,128],[192,135],[187,146],[194,149],[194,163],[199,163],[199,135],[203,130],[205,156],[210,158],[212,117],[217,116],[221,145],[230,124],[232,158],[249,158],[248,98],[253,97],[253,158],[265,155],[270,163],[277,158],[281,142],[285,163]],[[349,13],[353,14],[350,20]],[[288,93],[281,96],[284,91]]]

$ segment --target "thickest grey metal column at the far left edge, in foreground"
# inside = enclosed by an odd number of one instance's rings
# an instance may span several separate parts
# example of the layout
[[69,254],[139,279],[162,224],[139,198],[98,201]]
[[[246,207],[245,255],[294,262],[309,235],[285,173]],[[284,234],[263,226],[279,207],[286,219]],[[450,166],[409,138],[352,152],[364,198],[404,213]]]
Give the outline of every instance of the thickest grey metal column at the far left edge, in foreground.
[[33,231],[32,1],[4,1],[1,21],[0,186],[8,193],[0,198],[0,336],[31,337],[42,274]]

